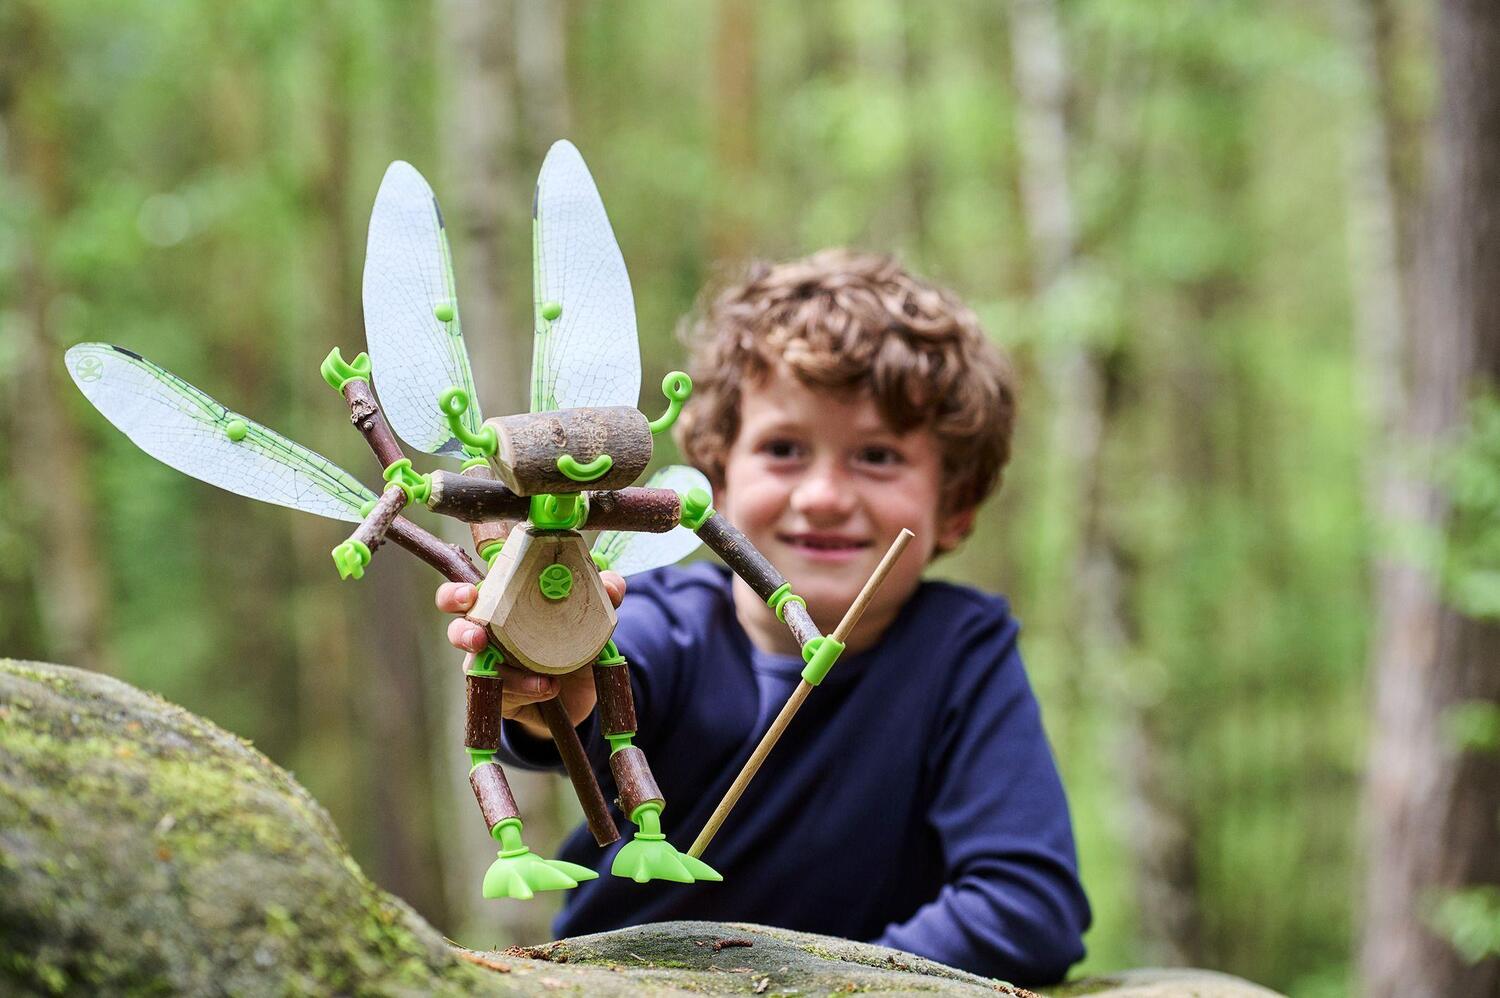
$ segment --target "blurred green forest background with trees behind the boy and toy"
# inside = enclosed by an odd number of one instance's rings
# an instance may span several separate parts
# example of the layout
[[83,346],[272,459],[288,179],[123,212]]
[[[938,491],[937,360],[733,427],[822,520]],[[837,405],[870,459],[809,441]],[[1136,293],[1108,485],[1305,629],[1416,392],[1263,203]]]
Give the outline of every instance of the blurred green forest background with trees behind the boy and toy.
[[[1005,489],[933,575],[1026,624],[1082,969],[1496,993],[1497,65],[1484,0],[6,0],[0,653],[252,738],[454,939],[546,938],[552,902],[478,897],[436,576],[339,582],[344,525],[156,464],[62,354],[128,345],[375,482],[318,363],[363,348],[386,165],[436,189],[512,411],[568,137],[648,410],[706,281],[826,245],[900,254],[1016,359]],[[572,819],[560,780],[518,797],[536,843]]]

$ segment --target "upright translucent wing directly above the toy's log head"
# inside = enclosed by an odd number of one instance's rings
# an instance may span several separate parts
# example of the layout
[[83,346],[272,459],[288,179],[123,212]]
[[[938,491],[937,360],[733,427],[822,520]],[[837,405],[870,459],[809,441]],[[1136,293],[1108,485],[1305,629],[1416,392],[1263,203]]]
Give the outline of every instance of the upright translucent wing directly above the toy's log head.
[[[630,275],[584,158],[555,143],[531,204],[531,411],[636,405],[640,344]],[[555,318],[549,315],[561,308]]]

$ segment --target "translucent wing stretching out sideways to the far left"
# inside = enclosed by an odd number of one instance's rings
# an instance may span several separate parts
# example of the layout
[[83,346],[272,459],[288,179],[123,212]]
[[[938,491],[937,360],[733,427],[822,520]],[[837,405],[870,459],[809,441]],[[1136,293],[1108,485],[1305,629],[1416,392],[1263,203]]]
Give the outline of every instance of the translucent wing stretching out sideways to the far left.
[[183,474],[351,522],[358,522],[360,507],[375,498],[322,455],[224,408],[140,354],[110,344],[78,344],[66,362],[78,389],[105,419]]

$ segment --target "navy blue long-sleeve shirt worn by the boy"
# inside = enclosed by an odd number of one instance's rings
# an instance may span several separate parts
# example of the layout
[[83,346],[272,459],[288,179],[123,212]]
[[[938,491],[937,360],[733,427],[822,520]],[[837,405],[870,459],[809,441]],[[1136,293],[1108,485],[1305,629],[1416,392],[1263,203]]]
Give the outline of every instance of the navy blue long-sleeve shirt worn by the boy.
[[[568,891],[556,933],[706,918],[873,941],[1042,984],[1083,956],[1089,905],[1072,827],[1006,602],[922,582],[880,642],[807,699],[704,860],[724,881],[612,876],[618,846],[586,827],[560,858],[600,870]],[[726,569],[630,579],[615,641],[630,660],[638,744],[686,849],[795,689],[801,660],[758,651]],[[579,734],[610,788],[597,720]],[[507,723],[502,759],[555,767]],[[610,794],[606,791],[606,797]],[[633,833],[614,812],[626,840]]]

